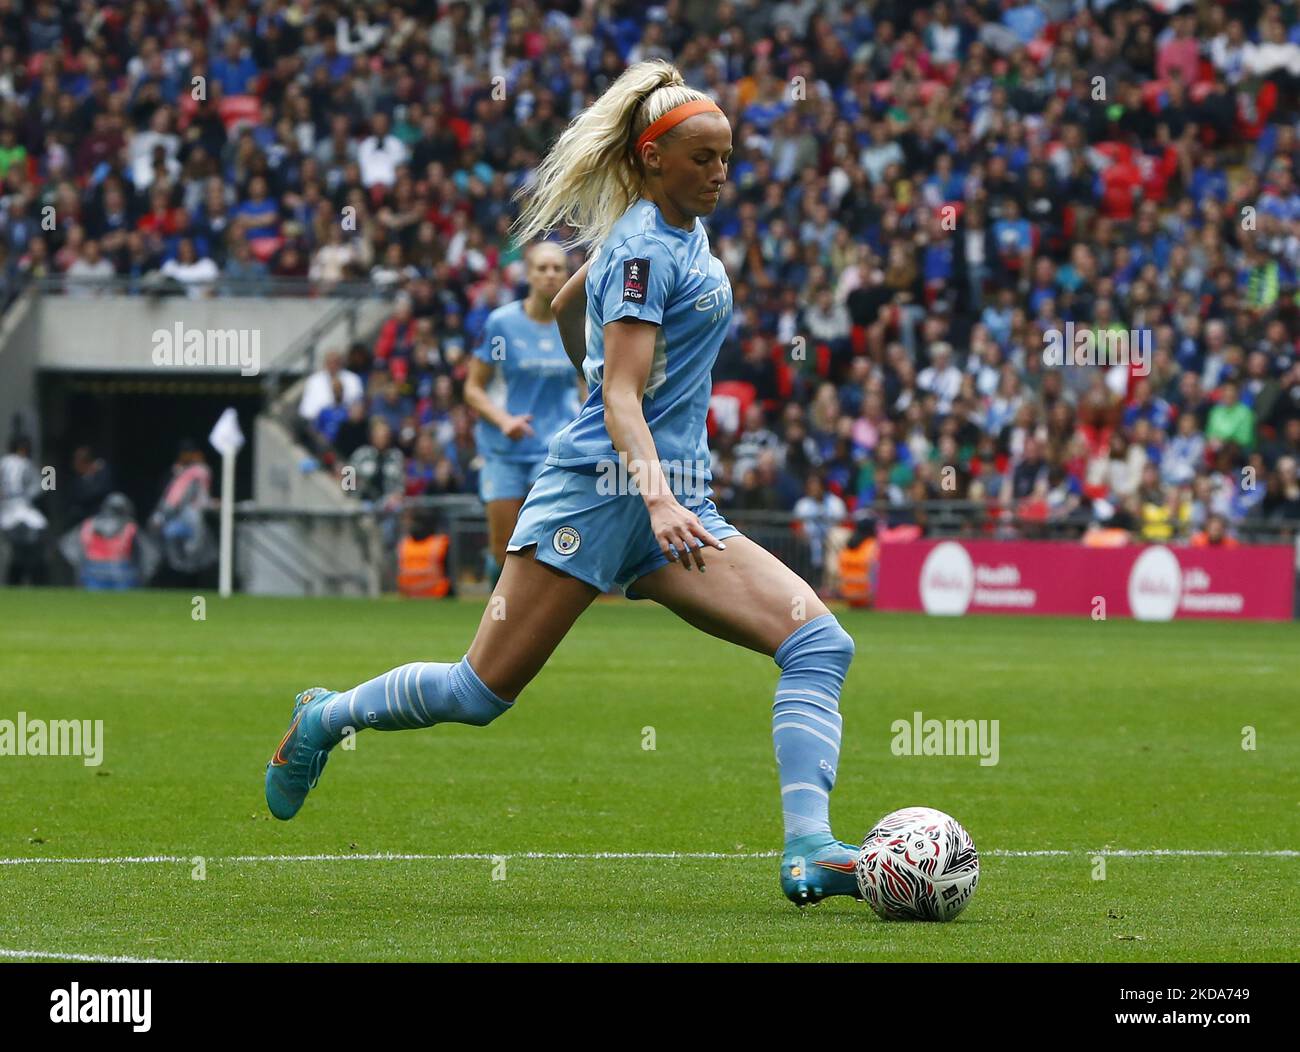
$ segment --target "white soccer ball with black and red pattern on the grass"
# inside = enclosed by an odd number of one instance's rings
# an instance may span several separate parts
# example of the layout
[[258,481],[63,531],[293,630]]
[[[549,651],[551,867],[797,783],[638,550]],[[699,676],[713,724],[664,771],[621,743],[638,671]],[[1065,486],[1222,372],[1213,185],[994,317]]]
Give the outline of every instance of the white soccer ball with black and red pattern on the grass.
[[975,893],[979,856],[956,818],[904,808],[867,834],[855,871],[862,897],[887,921],[952,921]]

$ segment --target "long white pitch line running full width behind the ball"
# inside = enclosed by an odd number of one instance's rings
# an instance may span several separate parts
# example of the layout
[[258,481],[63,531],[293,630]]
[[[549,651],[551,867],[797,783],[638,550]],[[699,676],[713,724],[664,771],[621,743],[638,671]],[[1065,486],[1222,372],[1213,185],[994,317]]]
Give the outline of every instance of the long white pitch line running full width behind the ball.
[[[0,858],[0,866],[150,866],[185,863],[196,858],[204,862],[491,862],[498,858],[533,858],[554,861],[598,860],[748,860],[779,858],[780,852],[458,852],[451,854],[403,854],[381,852],[372,854],[142,854],[107,858]],[[980,852],[983,858],[1300,858],[1300,850],[1196,850],[1176,848],[1098,848],[1096,850],[1004,850]]]

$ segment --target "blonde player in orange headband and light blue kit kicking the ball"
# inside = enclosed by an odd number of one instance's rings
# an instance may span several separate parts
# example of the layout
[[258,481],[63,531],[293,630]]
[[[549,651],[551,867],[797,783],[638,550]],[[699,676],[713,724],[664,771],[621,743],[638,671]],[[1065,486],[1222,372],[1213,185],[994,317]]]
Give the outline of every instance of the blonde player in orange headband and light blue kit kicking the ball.
[[[627,69],[542,161],[519,235],[567,222],[576,243],[598,246],[554,304],[590,394],[551,442],[469,651],[298,696],[266,769],[277,818],[294,817],[344,728],[482,726],[506,713],[578,615],[618,584],[772,655],[781,889],[801,905],[858,893],[854,849],[828,819],[853,640],[708,499],[705,417],[732,294],[699,216],[718,204],[731,155],[722,111],[673,66],[650,61]],[[499,609],[504,619],[491,615]]]

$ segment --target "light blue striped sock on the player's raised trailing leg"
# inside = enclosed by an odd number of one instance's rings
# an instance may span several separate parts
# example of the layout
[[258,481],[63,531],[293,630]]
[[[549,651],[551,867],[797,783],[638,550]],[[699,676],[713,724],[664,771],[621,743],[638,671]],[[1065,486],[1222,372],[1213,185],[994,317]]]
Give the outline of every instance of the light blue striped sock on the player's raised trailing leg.
[[343,728],[406,731],[436,723],[471,723],[484,727],[514,702],[497,697],[469,666],[468,657],[454,664],[417,661],[330,698],[321,723],[332,739]]

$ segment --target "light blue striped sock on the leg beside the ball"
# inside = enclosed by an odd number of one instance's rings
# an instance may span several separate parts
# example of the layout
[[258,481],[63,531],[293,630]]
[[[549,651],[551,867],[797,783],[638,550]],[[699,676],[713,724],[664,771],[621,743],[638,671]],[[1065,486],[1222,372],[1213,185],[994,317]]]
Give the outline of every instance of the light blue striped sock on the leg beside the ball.
[[840,762],[840,688],[853,637],[831,614],[792,632],[774,655],[781,670],[772,743],[781,780],[785,840],[831,832],[831,789]]

